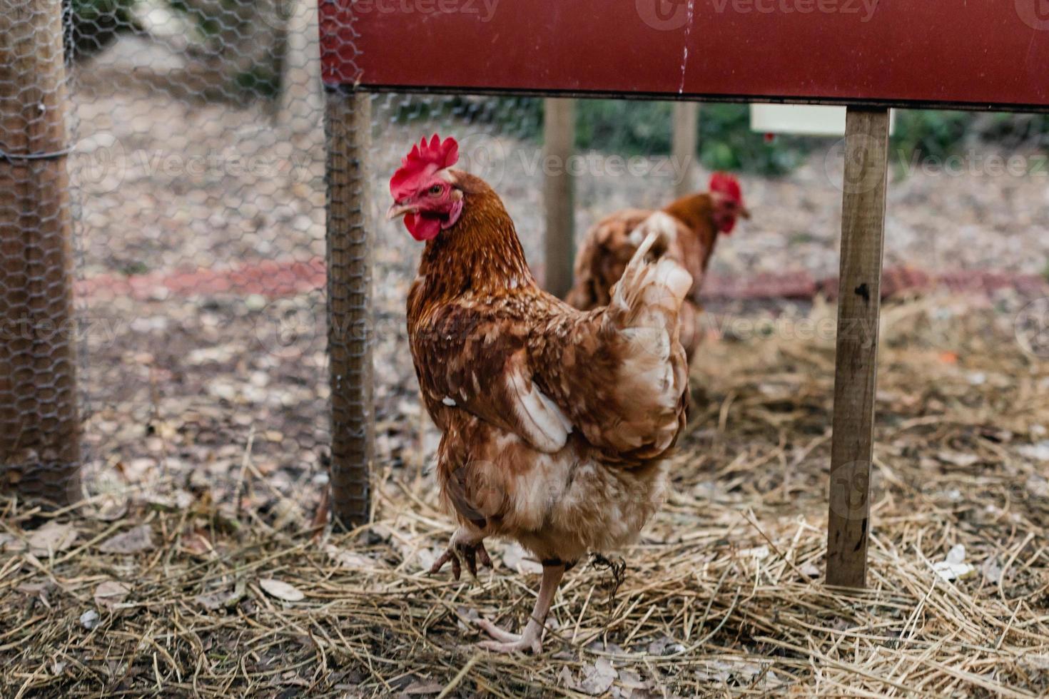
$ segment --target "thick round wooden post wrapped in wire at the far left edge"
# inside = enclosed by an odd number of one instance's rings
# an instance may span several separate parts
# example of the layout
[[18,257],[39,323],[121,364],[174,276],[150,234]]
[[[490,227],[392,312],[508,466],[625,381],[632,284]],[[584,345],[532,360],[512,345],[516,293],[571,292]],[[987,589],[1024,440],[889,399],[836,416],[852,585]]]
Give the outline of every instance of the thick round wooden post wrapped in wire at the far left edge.
[[80,498],[62,3],[0,0],[0,489]]

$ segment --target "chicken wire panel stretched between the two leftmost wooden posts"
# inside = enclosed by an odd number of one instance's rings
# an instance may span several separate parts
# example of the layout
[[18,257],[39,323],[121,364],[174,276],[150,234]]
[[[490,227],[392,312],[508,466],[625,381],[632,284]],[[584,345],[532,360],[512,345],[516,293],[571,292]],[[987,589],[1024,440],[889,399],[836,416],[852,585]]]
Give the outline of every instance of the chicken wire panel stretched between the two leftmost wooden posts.
[[315,6],[86,4],[67,35],[85,477],[295,520],[330,432]]

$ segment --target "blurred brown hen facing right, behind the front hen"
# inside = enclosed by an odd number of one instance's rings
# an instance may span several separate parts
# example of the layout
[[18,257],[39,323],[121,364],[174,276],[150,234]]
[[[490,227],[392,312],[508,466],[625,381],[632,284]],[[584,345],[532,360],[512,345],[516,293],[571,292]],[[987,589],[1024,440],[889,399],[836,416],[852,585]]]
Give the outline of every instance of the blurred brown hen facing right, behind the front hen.
[[627,262],[655,233],[659,239],[650,254],[678,261],[692,276],[692,288],[681,310],[681,344],[691,362],[703,340],[700,288],[718,236],[730,235],[738,218],[750,218],[735,177],[714,173],[709,189],[708,193],[678,199],[662,211],[625,209],[594,225],[579,247],[575,285],[565,301],[580,310],[607,304]]

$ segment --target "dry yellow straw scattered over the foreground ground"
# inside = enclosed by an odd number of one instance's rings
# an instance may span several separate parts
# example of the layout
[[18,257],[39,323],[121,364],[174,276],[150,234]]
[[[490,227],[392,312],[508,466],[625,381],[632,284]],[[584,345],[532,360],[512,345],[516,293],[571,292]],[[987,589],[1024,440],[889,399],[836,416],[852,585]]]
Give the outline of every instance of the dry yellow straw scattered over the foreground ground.
[[[477,582],[423,573],[451,531],[429,477],[379,474],[376,524],[348,534],[130,487],[76,511],[2,503],[0,695],[1046,694],[1046,364],[1011,312],[886,309],[870,590],[830,590],[833,345],[794,336],[826,318],[707,346],[669,502],[618,591],[594,566],[568,576],[539,657],[470,646],[472,614],[531,609],[513,547]],[[945,580],[958,545],[972,570]]]

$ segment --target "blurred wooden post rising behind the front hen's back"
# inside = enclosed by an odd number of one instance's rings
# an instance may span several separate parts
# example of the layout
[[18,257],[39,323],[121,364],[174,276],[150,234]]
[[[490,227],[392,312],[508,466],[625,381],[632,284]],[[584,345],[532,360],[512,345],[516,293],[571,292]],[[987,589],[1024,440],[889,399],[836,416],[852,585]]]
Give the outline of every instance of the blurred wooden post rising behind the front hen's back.
[[576,254],[575,183],[569,158],[575,152],[576,102],[545,100],[543,107],[543,199],[547,203],[547,290],[559,299],[572,288]]

